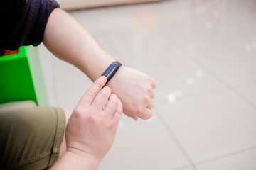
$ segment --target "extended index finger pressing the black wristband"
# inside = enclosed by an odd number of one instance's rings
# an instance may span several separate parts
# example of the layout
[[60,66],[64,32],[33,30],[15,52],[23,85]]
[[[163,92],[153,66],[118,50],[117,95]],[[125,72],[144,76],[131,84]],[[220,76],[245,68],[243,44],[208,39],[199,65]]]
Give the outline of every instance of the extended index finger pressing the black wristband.
[[99,77],[95,82],[90,86],[89,89],[85,92],[85,94],[81,97],[78,104],[82,104],[84,107],[89,107],[92,104],[92,101],[95,99],[99,91],[106,84],[107,77],[102,76]]

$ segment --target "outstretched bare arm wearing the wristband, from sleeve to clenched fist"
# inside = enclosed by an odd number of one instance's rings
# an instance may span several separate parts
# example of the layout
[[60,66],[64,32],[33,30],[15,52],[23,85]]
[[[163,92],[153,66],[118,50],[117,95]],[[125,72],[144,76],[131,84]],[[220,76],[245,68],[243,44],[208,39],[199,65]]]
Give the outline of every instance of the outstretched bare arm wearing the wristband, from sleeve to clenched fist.
[[[43,43],[56,57],[75,65],[92,81],[115,61],[78,21],[59,8],[48,18]],[[107,85],[121,99],[124,113],[134,119],[151,118],[156,86],[151,77],[122,66]]]

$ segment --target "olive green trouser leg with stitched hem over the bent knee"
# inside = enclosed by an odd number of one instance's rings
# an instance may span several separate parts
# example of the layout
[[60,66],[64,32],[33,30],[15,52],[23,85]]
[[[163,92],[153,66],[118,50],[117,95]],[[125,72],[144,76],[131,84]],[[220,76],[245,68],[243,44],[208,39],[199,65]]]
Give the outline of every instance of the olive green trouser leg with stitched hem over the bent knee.
[[62,108],[0,106],[0,169],[45,169],[53,165],[65,132]]

